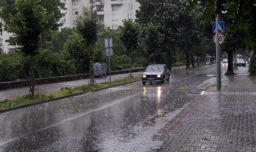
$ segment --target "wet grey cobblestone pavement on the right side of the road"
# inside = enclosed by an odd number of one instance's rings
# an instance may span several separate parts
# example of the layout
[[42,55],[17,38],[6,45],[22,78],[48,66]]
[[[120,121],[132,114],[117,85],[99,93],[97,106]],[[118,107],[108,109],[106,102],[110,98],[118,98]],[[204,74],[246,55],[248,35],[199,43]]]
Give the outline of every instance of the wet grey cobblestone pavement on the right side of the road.
[[160,131],[156,151],[256,152],[256,84],[248,68],[223,76]]

